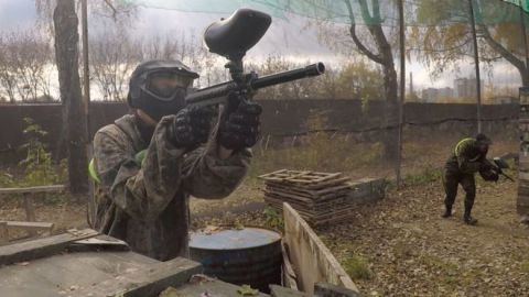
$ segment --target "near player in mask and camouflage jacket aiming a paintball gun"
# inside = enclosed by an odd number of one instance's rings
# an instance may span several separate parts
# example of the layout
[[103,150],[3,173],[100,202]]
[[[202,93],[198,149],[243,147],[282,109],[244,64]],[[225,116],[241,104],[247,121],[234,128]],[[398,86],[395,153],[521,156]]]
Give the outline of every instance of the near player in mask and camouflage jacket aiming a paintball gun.
[[127,114],[94,136],[98,231],[132,251],[166,261],[188,256],[188,197],[219,199],[245,177],[261,107],[230,100],[217,109],[185,107],[198,75],[177,61],[149,61],[132,73]]

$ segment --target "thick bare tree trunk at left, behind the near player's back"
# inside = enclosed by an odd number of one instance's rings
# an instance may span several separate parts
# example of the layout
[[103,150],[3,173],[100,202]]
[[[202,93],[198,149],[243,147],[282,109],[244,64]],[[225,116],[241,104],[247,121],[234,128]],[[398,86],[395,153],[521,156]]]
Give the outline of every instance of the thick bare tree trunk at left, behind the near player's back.
[[74,0],[57,0],[53,12],[55,26],[55,59],[63,103],[63,125],[66,127],[69,190],[73,195],[88,193],[88,163],[85,150],[86,119],[78,70],[78,19]]

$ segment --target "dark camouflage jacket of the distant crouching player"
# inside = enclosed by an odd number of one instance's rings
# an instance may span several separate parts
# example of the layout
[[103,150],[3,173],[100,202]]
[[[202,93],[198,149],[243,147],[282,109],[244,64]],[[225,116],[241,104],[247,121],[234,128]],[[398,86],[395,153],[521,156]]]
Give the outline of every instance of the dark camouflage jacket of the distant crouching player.
[[475,174],[486,162],[486,156],[487,153],[479,152],[475,139],[463,139],[455,145],[445,168],[454,173]]

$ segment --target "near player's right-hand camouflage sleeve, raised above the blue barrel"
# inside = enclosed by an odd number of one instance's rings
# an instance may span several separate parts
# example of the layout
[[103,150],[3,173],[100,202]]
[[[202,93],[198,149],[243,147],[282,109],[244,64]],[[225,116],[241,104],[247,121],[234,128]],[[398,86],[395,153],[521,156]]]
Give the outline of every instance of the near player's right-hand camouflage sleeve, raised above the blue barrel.
[[226,160],[220,160],[216,148],[216,144],[199,147],[184,160],[183,186],[194,197],[224,198],[239,186],[248,172],[251,150],[241,150]]

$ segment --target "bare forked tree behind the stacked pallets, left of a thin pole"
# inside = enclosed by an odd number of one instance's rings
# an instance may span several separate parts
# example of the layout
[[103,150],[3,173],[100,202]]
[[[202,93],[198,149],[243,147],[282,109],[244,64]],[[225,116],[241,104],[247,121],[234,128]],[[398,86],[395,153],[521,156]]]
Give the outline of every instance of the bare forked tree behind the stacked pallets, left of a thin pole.
[[[320,0],[306,0],[305,2],[312,7],[322,4]],[[384,99],[386,100],[384,125],[396,127],[398,124],[398,80],[392,45],[397,44],[396,30],[398,26],[385,25],[396,18],[384,18],[385,14],[388,15],[388,12],[397,11],[395,9],[396,1],[342,0],[339,3],[343,3],[343,15],[348,18],[348,24],[334,23],[333,15],[316,20],[320,36],[328,46],[347,55],[359,53],[381,68]],[[396,130],[387,129],[382,142],[384,157],[390,162],[397,161],[398,134]]]

